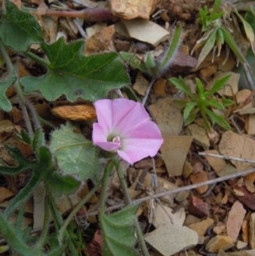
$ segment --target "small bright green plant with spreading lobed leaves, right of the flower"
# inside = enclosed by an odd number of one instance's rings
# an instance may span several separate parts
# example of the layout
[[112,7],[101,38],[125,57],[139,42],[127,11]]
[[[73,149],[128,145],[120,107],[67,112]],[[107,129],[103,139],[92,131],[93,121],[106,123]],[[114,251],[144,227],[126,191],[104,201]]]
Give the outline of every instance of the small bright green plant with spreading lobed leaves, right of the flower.
[[203,121],[205,124],[205,129],[210,132],[211,126],[207,119],[207,116],[211,119],[212,123],[217,123],[221,127],[225,128],[226,130],[230,130],[230,124],[224,119],[223,116],[219,116],[212,112],[209,108],[214,109],[221,109],[224,110],[225,107],[233,104],[231,100],[228,100],[226,98],[221,98],[221,102],[219,103],[216,98],[213,98],[213,94],[217,91],[223,89],[224,84],[230,79],[231,75],[226,75],[225,77],[222,77],[221,79],[217,79],[214,86],[212,86],[212,89],[209,91],[204,91],[203,84],[201,83],[200,79],[196,78],[196,84],[198,87],[198,95],[194,95],[191,93],[191,90],[187,86],[186,82],[182,77],[177,78],[171,78],[171,83],[179,90],[183,91],[184,93],[191,98],[192,102],[184,102],[185,109],[184,109],[184,120],[185,125],[188,125],[194,121],[196,118],[196,114],[198,112],[201,113],[201,116],[203,117]]

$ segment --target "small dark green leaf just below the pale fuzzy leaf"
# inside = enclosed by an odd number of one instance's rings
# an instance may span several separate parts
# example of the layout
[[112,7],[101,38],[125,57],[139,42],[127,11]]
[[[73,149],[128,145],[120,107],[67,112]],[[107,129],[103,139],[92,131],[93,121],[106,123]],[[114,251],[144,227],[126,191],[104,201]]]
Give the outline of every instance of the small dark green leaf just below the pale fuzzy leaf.
[[80,186],[80,181],[77,181],[74,177],[61,176],[61,174],[57,173],[45,176],[45,180],[57,195],[75,193]]

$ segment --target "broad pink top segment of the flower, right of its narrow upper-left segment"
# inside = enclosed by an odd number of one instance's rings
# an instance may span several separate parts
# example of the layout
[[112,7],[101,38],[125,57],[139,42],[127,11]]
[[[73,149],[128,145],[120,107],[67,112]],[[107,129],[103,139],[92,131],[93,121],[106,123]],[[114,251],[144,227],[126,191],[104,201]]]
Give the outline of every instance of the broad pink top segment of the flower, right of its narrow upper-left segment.
[[112,130],[120,138],[150,119],[143,105],[133,100],[117,99],[112,102]]

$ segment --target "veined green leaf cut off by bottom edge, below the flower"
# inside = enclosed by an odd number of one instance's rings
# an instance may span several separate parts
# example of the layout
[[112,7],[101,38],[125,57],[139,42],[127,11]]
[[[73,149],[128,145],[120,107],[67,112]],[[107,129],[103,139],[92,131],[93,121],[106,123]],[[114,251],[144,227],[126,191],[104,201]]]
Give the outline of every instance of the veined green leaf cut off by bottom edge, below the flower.
[[103,236],[103,255],[135,256],[135,214],[138,205],[128,206],[113,215],[99,215]]

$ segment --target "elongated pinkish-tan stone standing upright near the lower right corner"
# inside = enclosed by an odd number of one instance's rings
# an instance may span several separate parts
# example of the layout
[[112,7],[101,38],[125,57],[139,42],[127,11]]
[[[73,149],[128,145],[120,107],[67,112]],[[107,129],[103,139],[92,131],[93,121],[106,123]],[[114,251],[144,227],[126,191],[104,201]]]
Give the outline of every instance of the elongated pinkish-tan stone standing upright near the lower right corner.
[[228,236],[232,238],[233,243],[237,240],[238,234],[242,227],[242,222],[245,217],[245,209],[240,201],[235,201],[228,213],[228,220],[226,222],[226,230]]

